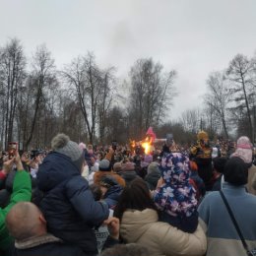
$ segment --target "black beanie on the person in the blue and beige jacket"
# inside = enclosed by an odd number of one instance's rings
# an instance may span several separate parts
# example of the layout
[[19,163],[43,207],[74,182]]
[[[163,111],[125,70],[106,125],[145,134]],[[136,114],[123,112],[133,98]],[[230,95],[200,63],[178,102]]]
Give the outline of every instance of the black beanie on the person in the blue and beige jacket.
[[224,166],[224,181],[241,186],[247,183],[248,166],[240,158],[233,157],[226,161]]

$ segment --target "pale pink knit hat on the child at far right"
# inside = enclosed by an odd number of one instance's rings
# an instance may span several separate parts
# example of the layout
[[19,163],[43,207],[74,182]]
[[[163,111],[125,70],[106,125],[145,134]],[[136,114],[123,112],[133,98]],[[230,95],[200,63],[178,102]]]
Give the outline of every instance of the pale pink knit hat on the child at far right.
[[236,150],[232,157],[238,157],[244,160],[245,163],[252,162],[252,144],[250,139],[246,136],[242,136],[237,140]]

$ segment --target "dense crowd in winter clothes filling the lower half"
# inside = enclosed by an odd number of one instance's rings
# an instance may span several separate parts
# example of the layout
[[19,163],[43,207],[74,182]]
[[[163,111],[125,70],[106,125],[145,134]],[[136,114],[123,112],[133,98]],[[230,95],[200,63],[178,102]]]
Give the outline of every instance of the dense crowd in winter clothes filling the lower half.
[[145,154],[58,134],[49,152],[3,154],[0,254],[256,255],[253,145],[197,139]]

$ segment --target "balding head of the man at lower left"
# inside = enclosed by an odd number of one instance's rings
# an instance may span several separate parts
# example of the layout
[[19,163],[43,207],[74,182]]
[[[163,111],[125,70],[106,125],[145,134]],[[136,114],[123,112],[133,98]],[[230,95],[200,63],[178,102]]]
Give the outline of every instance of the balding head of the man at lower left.
[[6,225],[10,234],[18,241],[47,232],[42,213],[31,202],[21,202],[13,206],[6,217]]

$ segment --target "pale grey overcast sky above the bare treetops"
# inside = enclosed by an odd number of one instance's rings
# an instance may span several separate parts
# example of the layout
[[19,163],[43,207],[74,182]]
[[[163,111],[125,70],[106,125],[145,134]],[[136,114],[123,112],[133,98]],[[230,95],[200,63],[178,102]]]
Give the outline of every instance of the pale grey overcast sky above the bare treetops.
[[58,68],[88,50],[125,78],[135,60],[175,69],[170,116],[202,103],[210,72],[256,50],[256,0],[0,0],[0,45],[46,43]]

